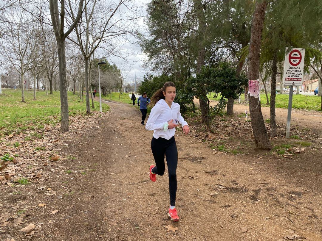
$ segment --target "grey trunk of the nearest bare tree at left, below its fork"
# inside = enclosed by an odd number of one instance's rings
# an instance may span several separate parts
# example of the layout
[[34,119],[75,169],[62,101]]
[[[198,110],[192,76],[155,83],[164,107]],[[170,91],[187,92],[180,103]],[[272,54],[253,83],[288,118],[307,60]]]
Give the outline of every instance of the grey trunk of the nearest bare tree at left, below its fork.
[[[61,131],[69,130],[68,120],[68,96],[67,96],[67,81],[66,81],[66,53],[65,53],[65,41],[57,41],[58,58],[59,58],[59,86],[60,86],[60,99],[61,99],[61,116],[62,125]],[[56,80],[56,78],[55,78]]]

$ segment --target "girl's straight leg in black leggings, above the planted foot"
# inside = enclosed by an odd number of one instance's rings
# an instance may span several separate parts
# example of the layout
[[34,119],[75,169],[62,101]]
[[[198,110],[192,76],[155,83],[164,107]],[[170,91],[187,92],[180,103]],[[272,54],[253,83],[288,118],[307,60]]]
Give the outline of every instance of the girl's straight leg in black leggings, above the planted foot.
[[177,192],[177,164],[178,164],[178,150],[175,143],[175,138],[172,137],[166,147],[166,164],[169,172],[169,192],[170,205],[175,206],[175,197]]

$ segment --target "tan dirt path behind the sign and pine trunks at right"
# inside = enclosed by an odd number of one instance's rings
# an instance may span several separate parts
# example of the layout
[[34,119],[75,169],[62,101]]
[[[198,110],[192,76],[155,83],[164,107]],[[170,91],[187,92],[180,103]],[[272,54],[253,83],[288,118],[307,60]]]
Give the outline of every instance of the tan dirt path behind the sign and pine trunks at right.
[[[195,100],[195,103],[199,105],[199,101]],[[211,106],[215,106],[217,102],[210,101]],[[234,103],[234,112],[244,113],[246,110],[245,104],[236,104]],[[270,119],[270,108],[269,107],[261,107],[264,120]],[[248,106],[249,111],[249,106]],[[284,123],[287,122],[287,112],[288,109],[283,108],[276,108],[276,121],[277,123]],[[299,126],[299,127],[306,127],[311,128],[312,130],[321,131],[322,124],[322,112],[318,111],[306,111],[306,110],[298,110],[292,109],[292,116],[291,116],[291,125]]]

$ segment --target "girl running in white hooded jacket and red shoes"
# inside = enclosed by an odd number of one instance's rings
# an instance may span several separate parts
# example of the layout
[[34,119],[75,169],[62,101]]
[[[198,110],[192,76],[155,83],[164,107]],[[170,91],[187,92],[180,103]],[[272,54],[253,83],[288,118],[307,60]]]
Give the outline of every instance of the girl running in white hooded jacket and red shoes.
[[[179,221],[175,209],[175,196],[177,192],[176,169],[178,164],[178,151],[175,144],[175,127],[180,123],[183,132],[189,133],[188,123],[180,114],[180,105],[174,103],[175,84],[166,82],[163,88],[153,94],[151,103],[154,107],[147,120],[146,129],[154,130],[151,149],[156,166],[150,165],[150,179],[156,181],[156,174],[162,176],[165,171],[164,156],[169,172],[170,208],[168,215],[172,221]],[[179,122],[179,123],[178,123]]]

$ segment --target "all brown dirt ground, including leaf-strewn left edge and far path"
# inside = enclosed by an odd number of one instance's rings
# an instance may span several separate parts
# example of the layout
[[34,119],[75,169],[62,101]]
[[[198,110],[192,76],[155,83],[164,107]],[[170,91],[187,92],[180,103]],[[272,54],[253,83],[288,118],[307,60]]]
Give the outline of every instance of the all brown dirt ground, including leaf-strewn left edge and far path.
[[[48,162],[43,175],[50,181],[15,189],[2,185],[0,214],[9,212],[11,223],[1,225],[1,241],[322,240],[321,113],[293,112],[293,123],[319,131],[316,147],[293,159],[214,152],[195,132],[177,131],[180,221],[173,223],[167,216],[167,173],[156,183],[147,174],[154,163],[152,132],[130,105],[108,104],[108,115],[94,115],[81,130],[60,137],[56,151],[75,159]],[[278,122],[285,113],[277,110]],[[269,110],[263,108],[263,115],[269,118]],[[20,224],[14,221],[17,205],[26,210]],[[28,223],[36,224],[36,232],[24,236],[19,230]],[[176,233],[167,225],[178,228]]]

